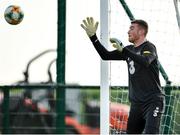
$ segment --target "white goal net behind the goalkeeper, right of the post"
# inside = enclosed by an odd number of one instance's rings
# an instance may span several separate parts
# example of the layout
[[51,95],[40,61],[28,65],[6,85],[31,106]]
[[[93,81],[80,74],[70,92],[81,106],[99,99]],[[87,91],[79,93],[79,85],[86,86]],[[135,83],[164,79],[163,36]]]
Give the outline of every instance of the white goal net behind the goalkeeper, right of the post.
[[[179,0],[175,2],[173,0],[126,0],[125,2],[135,18],[148,22],[147,39],[156,45],[159,61],[165,70],[160,74],[161,84],[166,93],[161,133],[180,134],[180,34],[177,19]],[[126,46],[130,44],[127,39],[130,18],[123,6],[122,0],[110,0],[110,37],[120,39]],[[125,62],[110,62],[110,85],[111,133],[126,133],[130,103],[127,88],[128,71]]]

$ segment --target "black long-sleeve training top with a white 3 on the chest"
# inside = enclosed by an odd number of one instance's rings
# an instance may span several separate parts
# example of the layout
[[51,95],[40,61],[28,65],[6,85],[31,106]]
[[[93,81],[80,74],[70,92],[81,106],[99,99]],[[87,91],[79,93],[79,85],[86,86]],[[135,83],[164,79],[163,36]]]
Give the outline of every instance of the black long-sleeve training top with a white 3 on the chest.
[[125,60],[129,74],[129,100],[133,103],[151,102],[163,98],[159,80],[158,56],[156,47],[149,41],[138,47],[129,45],[118,50],[108,51],[96,35],[90,37],[95,49],[103,60]]

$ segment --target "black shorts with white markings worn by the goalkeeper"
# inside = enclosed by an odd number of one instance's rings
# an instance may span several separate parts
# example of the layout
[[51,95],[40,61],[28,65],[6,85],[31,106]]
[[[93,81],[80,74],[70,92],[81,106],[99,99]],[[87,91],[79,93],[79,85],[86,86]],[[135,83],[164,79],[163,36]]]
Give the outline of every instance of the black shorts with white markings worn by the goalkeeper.
[[164,101],[155,101],[146,105],[131,104],[128,118],[128,134],[159,134]]

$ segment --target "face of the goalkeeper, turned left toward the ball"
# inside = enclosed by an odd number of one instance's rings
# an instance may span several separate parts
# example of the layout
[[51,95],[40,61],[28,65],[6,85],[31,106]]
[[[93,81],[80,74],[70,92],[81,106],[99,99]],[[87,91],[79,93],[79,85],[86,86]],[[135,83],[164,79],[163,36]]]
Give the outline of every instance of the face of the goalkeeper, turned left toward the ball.
[[132,23],[128,31],[129,42],[135,43],[139,39],[140,35],[141,35],[141,31],[138,24]]

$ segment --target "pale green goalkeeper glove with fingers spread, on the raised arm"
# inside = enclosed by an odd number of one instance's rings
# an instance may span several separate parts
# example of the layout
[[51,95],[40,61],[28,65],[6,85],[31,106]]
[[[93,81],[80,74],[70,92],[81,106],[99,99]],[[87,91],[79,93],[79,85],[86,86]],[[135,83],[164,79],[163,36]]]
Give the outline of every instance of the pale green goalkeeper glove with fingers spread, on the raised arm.
[[87,17],[86,20],[83,20],[84,24],[81,24],[81,27],[86,31],[89,37],[93,36],[96,33],[98,22],[94,23],[94,19],[92,17]]

